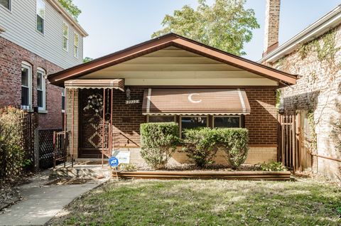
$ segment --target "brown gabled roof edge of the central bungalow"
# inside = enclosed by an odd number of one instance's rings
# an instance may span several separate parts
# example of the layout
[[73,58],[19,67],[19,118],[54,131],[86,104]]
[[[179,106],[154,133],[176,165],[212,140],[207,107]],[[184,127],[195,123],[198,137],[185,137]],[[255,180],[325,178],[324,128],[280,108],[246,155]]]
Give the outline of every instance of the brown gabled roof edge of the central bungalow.
[[168,33],[164,36],[131,46],[130,48],[120,50],[116,53],[105,55],[102,58],[97,58],[96,60],[92,60],[88,63],[76,65],[75,67],[68,68],[53,75],[48,75],[48,80],[50,80],[53,85],[63,86],[65,80],[76,79],[97,70],[102,70],[112,65],[117,65],[127,60],[138,58],[142,55],[153,53],[169,46],[175,46],[177,48],[211,58],[212,60],[217,60],[236,68],[253,72],[256,75],[276,80],[285,85],[296,84],[296,75],[291,75],[286,72],[267,67],[266,65],[261,65],[254,61],[241,58],[237,55],[232,55],[222,50],[218,50],[217,48],[212,48],[211,46],[179,36],[175,33]]

